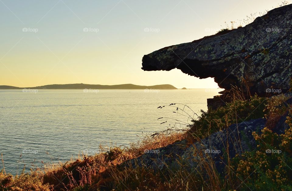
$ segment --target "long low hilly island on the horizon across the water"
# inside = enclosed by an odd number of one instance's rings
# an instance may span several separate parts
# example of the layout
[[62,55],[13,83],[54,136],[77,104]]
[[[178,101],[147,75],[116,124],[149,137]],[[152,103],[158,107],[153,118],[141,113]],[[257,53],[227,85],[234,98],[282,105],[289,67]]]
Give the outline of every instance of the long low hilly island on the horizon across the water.
[[43,89],[43,90],[58,90],[58,89],[105,89],[105,90],[144,90],[144,89],[156,89],[156,90],[177,90],[176,87],[170,84],[154,85],[154,86],[139,86],[134,84],[120,84],[120,85],[99,85],[99,84],[51,84],[37,87],[15,87],[0,85],[1,90],[9,89]]

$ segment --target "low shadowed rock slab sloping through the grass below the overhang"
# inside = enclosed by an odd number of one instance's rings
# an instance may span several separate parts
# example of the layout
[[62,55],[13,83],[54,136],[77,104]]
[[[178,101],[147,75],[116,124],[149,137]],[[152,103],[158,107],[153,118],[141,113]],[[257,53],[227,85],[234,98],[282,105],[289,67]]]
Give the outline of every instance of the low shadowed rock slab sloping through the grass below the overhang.
[[[289,102],[290,103],[290,102]],[[273,131],[277,134],[283,134],[289,125],[285,123],[288,113],[284,114]],[[245,151],[252,151],[256,148],[256,142],[252,136],[255,131],[261,134],[261,130],[266,127],[266,119],[253,119],[240,124],[232,124],[224,131],[213,133],[207,138],[190,144],[187,140],[182,140],[166,147],[148,151],[144,155],[120,165],[126,166],[144,166],[154,171],[178,170],[183,166],[186,170],[194,170],[208,155],[215,164],[219,173],[224,173],[224,167],[228,163],[223,155],[230,158],[236,154],[242,154]]]

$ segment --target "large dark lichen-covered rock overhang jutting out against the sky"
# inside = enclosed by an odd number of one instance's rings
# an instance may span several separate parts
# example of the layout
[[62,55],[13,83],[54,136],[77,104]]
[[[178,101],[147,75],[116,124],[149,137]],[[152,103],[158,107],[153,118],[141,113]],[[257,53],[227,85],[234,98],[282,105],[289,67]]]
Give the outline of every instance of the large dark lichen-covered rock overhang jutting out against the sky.
[[[226,34],[159,49],[144,55],[142,69],[177,68],[200,79],[213,77],[225,91],[233,85],[259,96],[285,93],[292,76],[291,10],[292,5],[283,6]],[[216,108],[222,101],[224,96],[215,97],[208,105]]]

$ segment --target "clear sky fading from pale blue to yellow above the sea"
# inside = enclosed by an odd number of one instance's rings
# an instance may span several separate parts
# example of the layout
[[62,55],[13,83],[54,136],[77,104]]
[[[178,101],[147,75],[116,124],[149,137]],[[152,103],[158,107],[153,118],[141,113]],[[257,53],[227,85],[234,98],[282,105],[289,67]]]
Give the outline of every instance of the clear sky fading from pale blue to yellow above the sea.
[[[216,88],[142,57],[216,33],[278,0],[0,0],[0,85],[172,84]],[[145,32],[145,28],[151,28]],[[87,31],[88,29],[88,31]]]

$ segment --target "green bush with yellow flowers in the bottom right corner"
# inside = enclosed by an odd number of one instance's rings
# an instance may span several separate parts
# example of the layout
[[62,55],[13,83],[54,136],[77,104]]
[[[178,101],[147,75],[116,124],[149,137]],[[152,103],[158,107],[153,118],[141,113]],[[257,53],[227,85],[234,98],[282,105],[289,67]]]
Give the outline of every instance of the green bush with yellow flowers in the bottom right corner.
[[[291,113],[291,111],[290,111]],[[277,135],[264,128],[262,134],[253,132],[257,149],[245,152],[232,159],[242,190],[292,190],[292,120],[287,117],[290,128],[283,135]],[[244,184],[240,180],[245,180]]]

